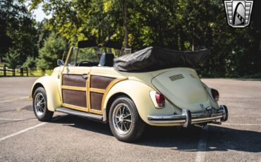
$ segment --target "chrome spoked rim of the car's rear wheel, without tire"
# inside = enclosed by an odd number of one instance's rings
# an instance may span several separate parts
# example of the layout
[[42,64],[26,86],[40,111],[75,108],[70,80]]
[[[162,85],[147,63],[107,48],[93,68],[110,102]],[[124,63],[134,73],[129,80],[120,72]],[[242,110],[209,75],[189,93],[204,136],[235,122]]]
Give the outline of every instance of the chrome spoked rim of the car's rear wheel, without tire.
[[132,126],[132,113],[126,104],[117,104],[112,113],[112,122],[120,135],[126,135]]

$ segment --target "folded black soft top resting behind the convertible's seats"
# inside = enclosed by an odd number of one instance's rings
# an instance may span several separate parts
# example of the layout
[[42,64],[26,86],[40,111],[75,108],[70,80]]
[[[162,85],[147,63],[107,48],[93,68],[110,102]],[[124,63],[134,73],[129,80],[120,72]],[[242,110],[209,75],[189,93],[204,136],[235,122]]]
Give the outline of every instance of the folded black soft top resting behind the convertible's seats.
[[164,68],[195,68],[209,56],[209,49],[200,51],[174,51],[150,46],[118,58],[114,58],[114,68],[120,71],[150,71]]

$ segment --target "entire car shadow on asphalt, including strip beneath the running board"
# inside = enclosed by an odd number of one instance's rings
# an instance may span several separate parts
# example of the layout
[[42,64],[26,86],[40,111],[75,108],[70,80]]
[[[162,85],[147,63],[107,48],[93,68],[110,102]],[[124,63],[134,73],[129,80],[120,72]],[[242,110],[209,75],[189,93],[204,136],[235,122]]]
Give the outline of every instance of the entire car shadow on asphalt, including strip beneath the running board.
[[[65,116],[52,123],[68,125],[83,130],[112,136],[108,124],[98,123],[85,118]],[[209,125],[208,130],[200,128],[147,126],[142,138],[133,144],[147,147],[164,147],[179,151],[197,151],[202,133],[207,133],[206,151],[245,151],[261,152],[261,132],[236,130],[233,128]]]

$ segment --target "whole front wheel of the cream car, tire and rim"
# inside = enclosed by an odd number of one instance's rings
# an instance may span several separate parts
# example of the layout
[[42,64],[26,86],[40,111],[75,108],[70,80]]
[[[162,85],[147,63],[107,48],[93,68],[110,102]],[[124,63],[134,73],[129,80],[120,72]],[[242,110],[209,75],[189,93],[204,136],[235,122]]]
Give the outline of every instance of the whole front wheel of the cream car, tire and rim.
[[43,87],[38,87],[35,90],[32,105],[34,108],[35,116],[40,121],[48,121],[54,115],[54,112],[49,111],[47,108],[47,94]]

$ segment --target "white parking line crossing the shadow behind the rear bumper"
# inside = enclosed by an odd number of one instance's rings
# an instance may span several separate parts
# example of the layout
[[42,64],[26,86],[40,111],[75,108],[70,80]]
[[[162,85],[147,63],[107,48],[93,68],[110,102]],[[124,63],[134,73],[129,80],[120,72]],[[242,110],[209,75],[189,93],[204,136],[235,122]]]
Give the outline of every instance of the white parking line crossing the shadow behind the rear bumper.
[[202,131],[200,135],[200,141],[198,142],[198,153],[195,158],[195,162],[205,161],[205,153],[207,151],[207,130],[208,127],[204,128],[206,131]]

